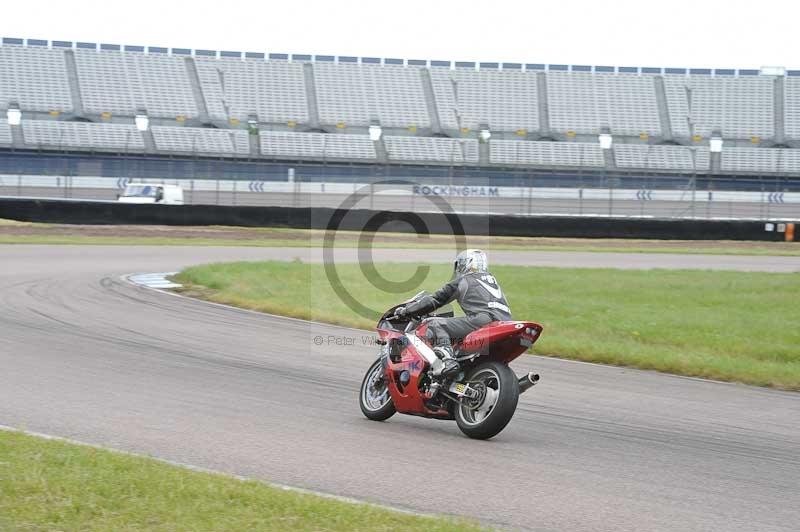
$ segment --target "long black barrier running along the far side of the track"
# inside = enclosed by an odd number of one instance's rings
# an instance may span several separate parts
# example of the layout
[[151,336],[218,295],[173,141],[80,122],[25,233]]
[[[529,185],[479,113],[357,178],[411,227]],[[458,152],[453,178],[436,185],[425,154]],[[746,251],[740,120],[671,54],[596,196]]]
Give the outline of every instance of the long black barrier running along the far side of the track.
[[[359,231],[365,227],[431,234],[664,240],[772,240],[786,238],[786,223],[755,220],[496,216],[329,208],[222,205],[136,205],[100,201],[0,198],[0,219],[96,225],[232,225]],[[771,226],[771,230],[767,228]],[[783,228],[783,231],[781,230]]]

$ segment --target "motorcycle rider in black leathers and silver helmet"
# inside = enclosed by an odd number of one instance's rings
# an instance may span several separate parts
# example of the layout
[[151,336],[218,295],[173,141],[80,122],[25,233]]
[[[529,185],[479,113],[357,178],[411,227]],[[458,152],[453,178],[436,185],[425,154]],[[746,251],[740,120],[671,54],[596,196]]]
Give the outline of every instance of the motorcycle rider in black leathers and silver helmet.
[[456,256],[453,263],[453,278],[433,295],[421,298],[404,307],[398,307],[395,315],[415,317],[427,314],[453,300],[466,316],[458,318],[431,318],[428,320],[427,340],[436,355],[442,359],[442,374],[454,375],[460,367],[453,354],[453,345],[476,329],[493,321],[511,320],[511,309],[503,295],[497,279],[488,271],[486,253],[479,249],[467,249]]

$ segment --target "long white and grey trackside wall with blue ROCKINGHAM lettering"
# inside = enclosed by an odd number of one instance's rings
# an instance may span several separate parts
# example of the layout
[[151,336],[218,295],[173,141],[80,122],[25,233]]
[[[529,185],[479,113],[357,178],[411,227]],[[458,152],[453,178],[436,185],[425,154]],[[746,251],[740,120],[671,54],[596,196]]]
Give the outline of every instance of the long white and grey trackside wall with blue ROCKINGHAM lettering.
[[[690,178],[669,188],[458,185],[424,179],[394,183],[128,179],[74,176],[0,176],[0,196],[115,201],[131,182],[173,184],[196,205],[344,207],[385,211],[628,216],[705,219],[798,219],[800,192],[698,189]],[[643,182],[647,185],[647,182]],[[659,184],[654,181],[653,185]]]

